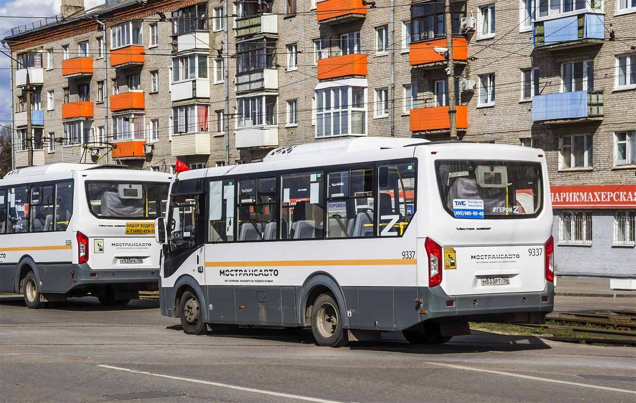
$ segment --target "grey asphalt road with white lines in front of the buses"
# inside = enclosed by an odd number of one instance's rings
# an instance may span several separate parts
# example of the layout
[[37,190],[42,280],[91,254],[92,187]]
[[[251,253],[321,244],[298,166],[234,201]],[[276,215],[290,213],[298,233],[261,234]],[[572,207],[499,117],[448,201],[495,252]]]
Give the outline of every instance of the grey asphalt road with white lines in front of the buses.
[[[479,332],[317,346],[303,330],[188,336],[158,302],[0,302],[2,402],[634,402],[636,349]],[[399,336],[399,335],[395,335]]]

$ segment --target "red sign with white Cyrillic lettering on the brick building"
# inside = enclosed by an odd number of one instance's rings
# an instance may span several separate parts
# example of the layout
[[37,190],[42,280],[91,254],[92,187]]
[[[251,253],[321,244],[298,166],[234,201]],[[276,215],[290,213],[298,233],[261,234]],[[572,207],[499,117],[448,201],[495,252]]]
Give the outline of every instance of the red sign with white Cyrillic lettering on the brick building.
[[553,208],[636,208],[632,185],[551,186]]

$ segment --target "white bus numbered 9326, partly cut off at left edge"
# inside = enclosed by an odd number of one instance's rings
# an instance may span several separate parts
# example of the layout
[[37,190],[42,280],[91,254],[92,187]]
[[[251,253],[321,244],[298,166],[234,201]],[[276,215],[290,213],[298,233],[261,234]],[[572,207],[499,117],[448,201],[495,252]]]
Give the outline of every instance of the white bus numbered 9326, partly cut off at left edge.
[[0,292],[29,308],[67,297],[127,304],[157,290],[169,174],[121,166],[50,164],[0,180]]

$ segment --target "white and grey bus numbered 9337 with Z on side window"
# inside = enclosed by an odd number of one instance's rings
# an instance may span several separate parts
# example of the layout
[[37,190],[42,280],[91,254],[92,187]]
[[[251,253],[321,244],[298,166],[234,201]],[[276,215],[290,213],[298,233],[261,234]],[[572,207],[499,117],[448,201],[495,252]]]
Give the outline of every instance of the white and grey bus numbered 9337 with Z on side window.
[[188,334],[311,327],[322,346],[544,323],[549,188],[541,150],[415,139],[289,146],[188,171],[156,222],[162,315]]

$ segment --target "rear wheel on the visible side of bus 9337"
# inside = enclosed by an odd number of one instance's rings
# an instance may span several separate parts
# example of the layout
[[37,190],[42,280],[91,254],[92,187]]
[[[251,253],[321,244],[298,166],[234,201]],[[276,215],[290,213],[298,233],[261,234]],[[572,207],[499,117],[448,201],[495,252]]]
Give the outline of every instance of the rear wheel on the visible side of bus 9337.
[[342,347],[349,343],[349,338],[342,329],[342,319],[338,303],[331,294],[321,294],[314,302],[312,309],[312,333],[321,346]]

